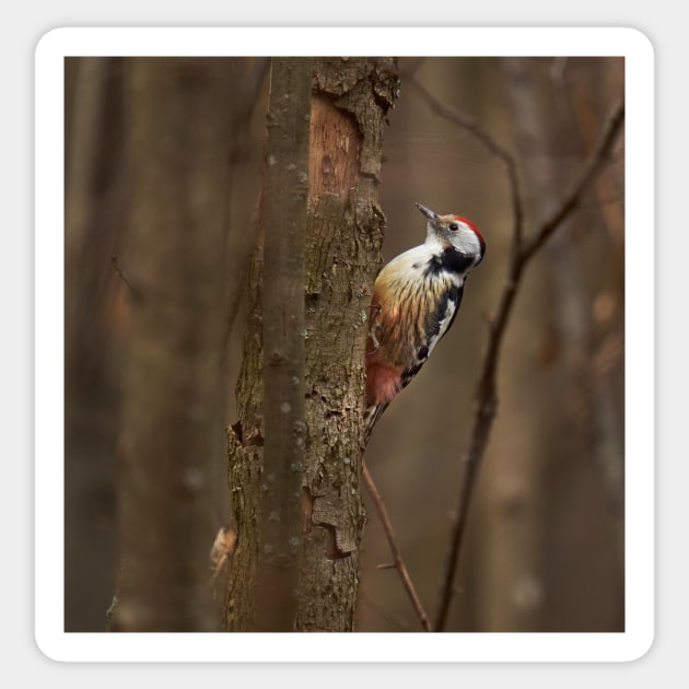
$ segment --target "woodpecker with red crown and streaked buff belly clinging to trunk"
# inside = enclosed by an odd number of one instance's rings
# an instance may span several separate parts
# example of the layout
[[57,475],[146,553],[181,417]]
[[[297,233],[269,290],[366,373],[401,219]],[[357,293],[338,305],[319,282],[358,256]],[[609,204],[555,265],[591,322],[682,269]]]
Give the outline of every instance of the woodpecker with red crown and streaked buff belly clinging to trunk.
[[425,215],[425,242],[383,267],[373,287],[366,343],[364,437],[449,330],[464,283],[486,254],[479,229],[460,215]]

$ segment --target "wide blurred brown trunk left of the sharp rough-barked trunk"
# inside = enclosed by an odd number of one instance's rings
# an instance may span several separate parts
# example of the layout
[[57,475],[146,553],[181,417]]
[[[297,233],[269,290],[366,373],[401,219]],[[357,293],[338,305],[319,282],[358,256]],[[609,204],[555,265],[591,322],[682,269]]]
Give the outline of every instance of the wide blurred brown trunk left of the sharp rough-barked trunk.
[[126,69],[133,258],[113,629],[210,631],[232,65],[135,58]]

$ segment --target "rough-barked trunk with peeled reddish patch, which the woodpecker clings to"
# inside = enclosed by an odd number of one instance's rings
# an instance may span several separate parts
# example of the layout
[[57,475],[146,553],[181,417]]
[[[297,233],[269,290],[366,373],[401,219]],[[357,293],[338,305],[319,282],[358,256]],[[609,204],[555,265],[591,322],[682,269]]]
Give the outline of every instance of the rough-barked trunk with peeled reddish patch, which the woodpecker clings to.
[[[381,265],[378,206],[385,115],[398,94],[392,59],[331,58],[314,66],[311,102],[305,299],[305,449],[295,629],[352,631],[358,547],[366,319]],[[268,159],[270,152],[267,152]],[[264,279],[260,243],[249,271],[240,421],[229,429],[237,548],[225,627],[255,627],[262,468]],[[265,279],[271,279],[266,275]]]

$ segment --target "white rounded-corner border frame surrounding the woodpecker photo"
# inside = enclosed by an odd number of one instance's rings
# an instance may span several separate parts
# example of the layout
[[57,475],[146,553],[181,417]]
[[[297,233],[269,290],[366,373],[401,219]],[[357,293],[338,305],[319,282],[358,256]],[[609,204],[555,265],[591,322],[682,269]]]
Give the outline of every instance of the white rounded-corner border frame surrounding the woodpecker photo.
[[[63,58],[245,55],[626,58],[626,631],[107,634],[63,631]],[[654,55],[631,28],[59,28],[36,47],[35,634],[59,661],[633,661],[654,634]],[[638,270],[630,267],[638,266]],[[643,280],[631,276],[643,275]],[[57,448],[57,449],[56,449]],[[457,638],[459,637],[459,638]],[[275,641],[267,644],[266,642]],[[267,653],[267,650],[270,653]]]

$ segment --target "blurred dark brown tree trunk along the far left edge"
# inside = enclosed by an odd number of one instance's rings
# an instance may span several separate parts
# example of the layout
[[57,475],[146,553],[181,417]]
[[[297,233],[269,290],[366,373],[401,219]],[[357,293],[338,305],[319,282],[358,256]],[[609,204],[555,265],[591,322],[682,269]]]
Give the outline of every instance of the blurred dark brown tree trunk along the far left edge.
[[101,631],[127,329],[110,262],[124,224],[121,58],[67,58],[65,69],[65,627]]

